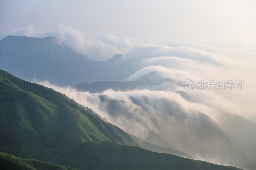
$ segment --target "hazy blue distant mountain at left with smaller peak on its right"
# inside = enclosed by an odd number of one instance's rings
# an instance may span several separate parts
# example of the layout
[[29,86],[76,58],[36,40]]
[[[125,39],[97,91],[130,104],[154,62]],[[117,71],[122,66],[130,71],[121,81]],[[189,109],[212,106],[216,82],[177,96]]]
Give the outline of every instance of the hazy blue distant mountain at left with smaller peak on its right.
[[[55,37],[7,36],[0,41],[0,69],[32,81],[75,86],[81,82],[121,81],[137,68],[120,60],[92,61]],[[116,71],[118,70],[118,71]]]

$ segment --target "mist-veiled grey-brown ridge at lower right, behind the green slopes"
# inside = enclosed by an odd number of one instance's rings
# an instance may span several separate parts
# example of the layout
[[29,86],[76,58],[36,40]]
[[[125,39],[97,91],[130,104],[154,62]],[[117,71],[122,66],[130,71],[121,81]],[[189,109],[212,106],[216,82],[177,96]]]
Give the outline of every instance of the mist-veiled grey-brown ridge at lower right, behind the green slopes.
[[[94,101],[92,104],[100,102],[109,120],[132,135],[140,134],[141,140],[197,159],[255,169],[256,140],[252,135],[256,131],[255,123],[242,117],[214,119],[204,113],[185,111],[179,103],[166,98],[143,95],[127,98],[130,100],[93,95],[89,100]],[[134,128],[135,125],[139,128]],[[163,152],[160,148],[154,151]]]

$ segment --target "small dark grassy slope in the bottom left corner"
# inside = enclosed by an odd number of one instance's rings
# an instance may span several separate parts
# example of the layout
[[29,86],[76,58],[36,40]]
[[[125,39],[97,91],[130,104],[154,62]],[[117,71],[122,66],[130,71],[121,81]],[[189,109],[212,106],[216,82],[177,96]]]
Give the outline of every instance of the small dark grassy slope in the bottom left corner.
[[21,159],[14,155],[0,152],[0,167],[1,169],[12,170],[39,170],[39,169],[51,169],[51,170],[75,170],[64,166],[58,166],[40,162],[33,159]]

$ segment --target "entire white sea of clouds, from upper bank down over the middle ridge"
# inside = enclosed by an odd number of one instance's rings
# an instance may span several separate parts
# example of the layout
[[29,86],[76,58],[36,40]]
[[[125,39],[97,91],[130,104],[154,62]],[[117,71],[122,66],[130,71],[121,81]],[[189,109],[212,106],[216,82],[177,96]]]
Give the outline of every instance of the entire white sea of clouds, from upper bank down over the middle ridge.
[[[81,92],[72,87],[60,87],[47,81],[35,80],[36,83],[62,92],[76,102],[94,109],[110,123],[142,139],[147,139],[148,129],[152,129],[166,140],[171,140],[174,128],[178,127],[177,124],[172,125],[177,122],[177,115],[173,115],[173,112],[185,117],[189,115],[196,117],[196,113],[204,113],[216,123],[218,123],[216,115],[222,112],[248,119],[255,116],[256,49],[253,48],[255,42],[208,40],[202,37],[182,37],[161,33],[121,36],[111,33],[89,34],[61,23],[47,33],[37,31],[33,25],[30,25],[13,30],[13,35],[55,36],[95,61],[106,61],[121,53],[123,56],[120,60],[138,68],[129,77],[124,77],[123,81],[139,80],[149,73],[156,72],[149,77],[152,85],[145,89],[129,91],[108,89],[101,93]],[[163,81],[166,78],[172,81]],[[184,88],[186,79],[195,83],[199,80],[214,82],[243,80],[244,86],[242,90],[197,90],[195,87],[186,91]],[[175,93],[177,91],[185,91],[191,99],[186,100]],[[102,95],[106,96],[104,101],[100,98]],[[109,103],[113,101],[115,101],[116,114],[109,110]],[[168,105],[172,105],[171,111]],[[168,116],[166,113],[172,115]],[[191,152],[186,149],[185,151]],[[209,161],[210,158],[207,160]],[[217,161],[223,164],[220,160],[221,158],[215,159],[215,163]]]

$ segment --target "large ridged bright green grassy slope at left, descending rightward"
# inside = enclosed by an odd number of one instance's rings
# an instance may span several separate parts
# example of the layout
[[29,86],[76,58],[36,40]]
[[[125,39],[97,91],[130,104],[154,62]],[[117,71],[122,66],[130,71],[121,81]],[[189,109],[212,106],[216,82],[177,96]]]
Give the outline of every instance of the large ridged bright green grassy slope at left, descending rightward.
[[[85,141],[138,144],[63,94],[0,70],[0,151],[48,161]],[[138,144],[140,145],[140,144]]]

